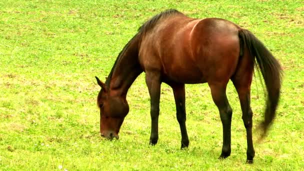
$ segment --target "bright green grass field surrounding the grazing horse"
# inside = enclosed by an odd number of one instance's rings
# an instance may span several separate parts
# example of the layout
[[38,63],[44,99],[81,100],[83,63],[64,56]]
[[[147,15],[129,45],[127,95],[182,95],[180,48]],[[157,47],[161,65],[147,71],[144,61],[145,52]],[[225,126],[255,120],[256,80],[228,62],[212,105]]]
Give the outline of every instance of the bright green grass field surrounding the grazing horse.
[[[220,17],[251,30],[280,61],[284,78],[276,119],[255,161],[245,164],[246,135],[237,93],[231,156],[207,84],[186,85],[188,149],[172,90],[162,84],[159,140],[149,146],[149,95],[144,73],[128,91],[119,140],[99,135],[99,86],[117,54],[149,17],[176,8],[191,17]],[[304,2],[302,0],[1,0],[0,170],[303,170]],[[103,79],[104,80],[104,79]],[[253,126],[264,92],[251,86]]]

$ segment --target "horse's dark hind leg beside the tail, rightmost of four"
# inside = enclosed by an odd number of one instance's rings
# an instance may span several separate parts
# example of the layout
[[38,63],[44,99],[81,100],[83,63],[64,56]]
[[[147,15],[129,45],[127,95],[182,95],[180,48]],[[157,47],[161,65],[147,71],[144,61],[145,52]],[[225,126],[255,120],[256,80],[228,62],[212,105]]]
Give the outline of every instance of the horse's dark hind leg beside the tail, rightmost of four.
[[[235,84],[236,85],[236,84]],[[253,157],[255,154],[253,143],[252,143],[252,110],[250,107],[250,90],[248,88],[240,88],[235,86],[239,101],[240,101],[240,107],[242,111],[242,119],[244,122],[244,126],[246,128],[246,134],[247,134],[247,163],[253,163]]]

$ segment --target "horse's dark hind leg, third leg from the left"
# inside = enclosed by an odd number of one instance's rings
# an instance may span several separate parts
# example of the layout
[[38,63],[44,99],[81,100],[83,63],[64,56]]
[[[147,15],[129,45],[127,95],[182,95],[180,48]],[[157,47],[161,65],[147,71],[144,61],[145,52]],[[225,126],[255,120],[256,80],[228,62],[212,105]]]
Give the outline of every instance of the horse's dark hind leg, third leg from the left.
[[226,84],[209,84],[212,99],[218,108],[222,123],[223,144],[219,158],[226,158],[231,152],[231,117],[232,109],[226,97]]

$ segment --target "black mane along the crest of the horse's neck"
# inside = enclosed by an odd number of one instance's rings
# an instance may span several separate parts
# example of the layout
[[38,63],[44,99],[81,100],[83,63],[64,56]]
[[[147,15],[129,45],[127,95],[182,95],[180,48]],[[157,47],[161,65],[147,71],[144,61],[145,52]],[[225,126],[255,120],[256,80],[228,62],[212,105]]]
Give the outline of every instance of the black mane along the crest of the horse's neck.
[[110,84],[110,80],[111,80],[111,77],[112,77],[112,73],[114,72],[115,70],[115,67],[120,59],[120,57],[123,55],[125,49],[128,48],[128,45],[130,44],[130,42],[136,37],[136,36],[141,36],[143,34],[145,34],[147,31],[149,31],[150,29],[152,29],[157,21],[162,18],[162,17],[167,17],[167,16],[170,16],[170,15],[174,15],[174,14],[183,14],[181,12],[179,12],[178,10],[176,9],[167,9],[165,11],[162,11],[160,13],[158,13],[157,15],[151,17],[149,20],[145,21],[139,28],[138,28],[138,32],[124,45],[124,47],[122,48],[122,50],[119,52],[115,62],[114,62],[114,65],[110,71],[110,73],[108,74],[106,80],[105,80],[105,84],[107,87],[109,87],[109,84]]

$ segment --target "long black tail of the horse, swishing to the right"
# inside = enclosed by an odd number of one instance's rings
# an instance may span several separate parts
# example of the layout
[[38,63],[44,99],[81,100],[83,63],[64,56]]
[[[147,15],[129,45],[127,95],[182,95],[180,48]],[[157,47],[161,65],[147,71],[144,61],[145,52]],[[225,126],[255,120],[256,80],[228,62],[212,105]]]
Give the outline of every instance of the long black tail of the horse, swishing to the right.
[[262,73],[266,85],[268,99],[264,112],[264,120],[259,125],[263,131],[261,135],[261,138],[263,138],[275,117],[275,110],[280,95],[282,70],[279,62],[273,57],[271,52],[249,30],[240,29],[238,35],[241,47],[240,54],[242,55],[243,48],[248,49],[256,69]]

